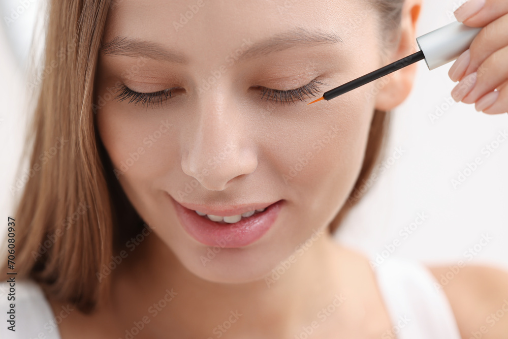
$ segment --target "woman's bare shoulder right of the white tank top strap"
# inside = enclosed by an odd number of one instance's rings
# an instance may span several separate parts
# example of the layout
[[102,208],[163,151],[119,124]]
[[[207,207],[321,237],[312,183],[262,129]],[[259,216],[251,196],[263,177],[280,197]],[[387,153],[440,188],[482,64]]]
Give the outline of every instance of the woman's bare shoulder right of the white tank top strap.
[[508,271],[486,265],[430,266],[452,306],[463,339],[505,339]]

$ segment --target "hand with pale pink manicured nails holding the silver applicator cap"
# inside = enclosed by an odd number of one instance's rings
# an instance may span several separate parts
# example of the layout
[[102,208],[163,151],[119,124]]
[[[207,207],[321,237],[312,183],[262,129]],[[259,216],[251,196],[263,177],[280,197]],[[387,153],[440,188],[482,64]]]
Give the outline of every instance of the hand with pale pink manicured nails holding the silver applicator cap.
[[454,14],[484,28],[450,68],[450,79],[460,80],[452,98],[487,114],[508,113],[508,0],[468,0]]

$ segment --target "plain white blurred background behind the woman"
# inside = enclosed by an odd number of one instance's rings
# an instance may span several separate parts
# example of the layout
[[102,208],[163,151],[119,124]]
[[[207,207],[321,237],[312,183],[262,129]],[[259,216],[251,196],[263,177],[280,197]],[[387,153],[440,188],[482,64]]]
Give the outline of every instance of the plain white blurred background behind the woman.
[[[462,2],[424,0],[417,36],[455,21],[453,11]],[[22,3],[0,3],[0,216],[5,223],[8,215],[14,216],[15,196],[9,187],[17,178],[24,138],[26,80],[22,70],[38,0],[25,0],[29,5],[9,26],[4,18],[11,17]],[[411,94],[393,113],[387,157],[396,147],[404,152],[374,181],[341,225],[337,238],[371,257],[398,240],[390,255],[428,264],[453,265],[462,260],[508,269],[508,140],[489,157],[484,148],[500,132],[508,132],[508,115],[488,115],[475,111],[473,105],[455,103],[451,99],[455,84],[448,77],[451,66],[429,71],[425,61],[419,61]],[[437,117],[434,121],[432,114]],[[451,180],[477,157],[482,163],[454,188]],[[27,165],[21,173],[25,168]],[[403,238],[399,232],[415,222],[419,212],[428,217]],[[492,239],[482,246],[484,236]],[[475,255],[466,256],[475,244]]]

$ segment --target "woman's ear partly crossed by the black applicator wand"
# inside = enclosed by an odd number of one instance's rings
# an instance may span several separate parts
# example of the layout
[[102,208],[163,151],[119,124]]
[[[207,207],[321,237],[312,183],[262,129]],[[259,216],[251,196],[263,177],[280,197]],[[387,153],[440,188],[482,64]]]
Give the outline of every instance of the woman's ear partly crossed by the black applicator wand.
[[[406,0],[404,2],[401,23],[399,28],[399,40],[390,49],[385,58],[386,66],[394,61],[402,59],[417,52],[416,25],[420,16],[422,0]],[[380,88],[375,100],[375,108],[381,111],[389,111],[400,105],[409,95],[415,74],[417,63],[406,66],[390,73],[383,78],[377,79],[376,87]]]

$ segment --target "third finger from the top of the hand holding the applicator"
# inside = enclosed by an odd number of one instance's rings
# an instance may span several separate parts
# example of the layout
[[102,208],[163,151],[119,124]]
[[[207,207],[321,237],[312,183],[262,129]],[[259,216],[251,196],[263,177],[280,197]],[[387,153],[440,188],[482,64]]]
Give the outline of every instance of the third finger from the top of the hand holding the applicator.
[[[461,101],[465,104],[472,104],[478,99],[493,91],[496,87],[503,84],[508,79],[508,46],[491,54],[484,63],[478,68],[475,81],[471,80],[471,75],[465,77],[462,81],[467,82],[468,87],[459,82],[457,86],[466,88],[466,92]],[[467,81],[466,81],[467,80]],[[462,82],[461,81],[461,82]],[[469,88],[472,87],[471,90]]]

